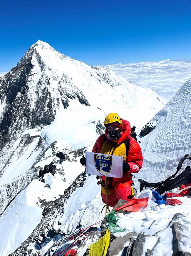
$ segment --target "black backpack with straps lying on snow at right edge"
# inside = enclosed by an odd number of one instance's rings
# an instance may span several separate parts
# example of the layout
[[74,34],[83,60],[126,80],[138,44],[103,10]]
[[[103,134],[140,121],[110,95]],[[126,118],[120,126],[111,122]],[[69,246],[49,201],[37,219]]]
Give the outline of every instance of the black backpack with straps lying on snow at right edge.
[[[145,187],[145,188],[147,187],[147,188],[156,190],[159,194],[163,194],[169,190],[172,190],[173,188],[180,187],[181,185],[188,185],[189,183],[191,183],[191,168],[190,168],[190,166],[187,166],[182,173],[180,173],[177,177],[175,177],[175,175],[180,171],[182,164],[186,159],[191,160],[191,155],[189,155],[189,154],[185,155],[180,160],[180,162],[176,168],[177,171],[175,172],[175,174],[173,174],[172,176],[167,178],[165,181],[161,181],[161,182],[157,182],[157,183],[149,183],[147,181],[138,179],[138,181],[140,183],[140,192],[143,190],[143,187]],[[191,190],[190,190],[189,195],[190,194],[191,194]]]

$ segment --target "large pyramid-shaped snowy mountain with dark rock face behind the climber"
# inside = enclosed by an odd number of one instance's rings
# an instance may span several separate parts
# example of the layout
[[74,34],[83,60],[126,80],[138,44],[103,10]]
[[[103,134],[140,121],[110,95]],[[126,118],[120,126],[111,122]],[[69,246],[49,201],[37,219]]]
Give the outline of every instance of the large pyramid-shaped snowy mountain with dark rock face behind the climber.
[[164,106],[150,89],[135,86],[108,68],[73,60],[40,40],[0,77],[0,89],[2,186],[29,175],[30,168],[33,175],[25,185],[36,177],[39,168],[33,165],[42,157],[39,152],[44,156],[58,140],[67,152],[93,145],[109,112],[118,112],[141,128]]

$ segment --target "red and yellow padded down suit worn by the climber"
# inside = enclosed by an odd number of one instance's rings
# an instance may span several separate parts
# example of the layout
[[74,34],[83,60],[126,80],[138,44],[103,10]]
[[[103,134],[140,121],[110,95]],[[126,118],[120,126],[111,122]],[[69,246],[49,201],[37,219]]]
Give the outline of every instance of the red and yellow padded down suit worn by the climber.
[[[128,162],[130,169],[123,173],[123,178],[108,178],[107,180],[107,204],[111,207],[118,203],[119,199],[130,200],[133,196],[132,192],[132,175],[131,173],[139,172],[143,165],[143,155],[139,143],[130,137],[130,123],[122,119],[121,136],[117,141],[108,138],[108,131],[105,129],[105,134],[101,135],[92,152],[123,156],[124,161]],[[128,156],[126,156],[125,141],[129,139]],[[101,176],[101,196],[103,203],[105,197],[105,177]]]

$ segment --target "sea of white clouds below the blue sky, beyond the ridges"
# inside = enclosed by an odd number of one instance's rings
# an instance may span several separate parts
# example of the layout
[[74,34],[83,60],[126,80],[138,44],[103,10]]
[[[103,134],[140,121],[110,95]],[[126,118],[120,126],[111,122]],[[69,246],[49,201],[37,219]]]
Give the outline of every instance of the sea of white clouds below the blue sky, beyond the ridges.
[[191,60],[164,60],[130,64],[107,65],[109,69],[125,76],[133,84],[150,88],[168,102],[191,77]]

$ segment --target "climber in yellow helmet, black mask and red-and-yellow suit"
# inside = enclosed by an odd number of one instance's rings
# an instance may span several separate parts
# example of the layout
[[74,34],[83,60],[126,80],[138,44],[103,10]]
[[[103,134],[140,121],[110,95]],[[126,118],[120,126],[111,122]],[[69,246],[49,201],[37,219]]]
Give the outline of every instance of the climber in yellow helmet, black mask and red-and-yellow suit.
[[[110,113],[105,117],[105,134],[101,135],[92,152],[123,156],[123,178],[107,178],[101,176],[101,196],[106,202],[105,189],[107,189],[107,204],[111,207],[118,203],[119,199],[130,200],[133,197],[132,173],[139,172],[143,164],[143,156],[138,142],[130,137],[130,123],[123,120],[116,113]],[[86,159],[80,159],[82,165]],[[106,187],[105,187],[106,186]]]

